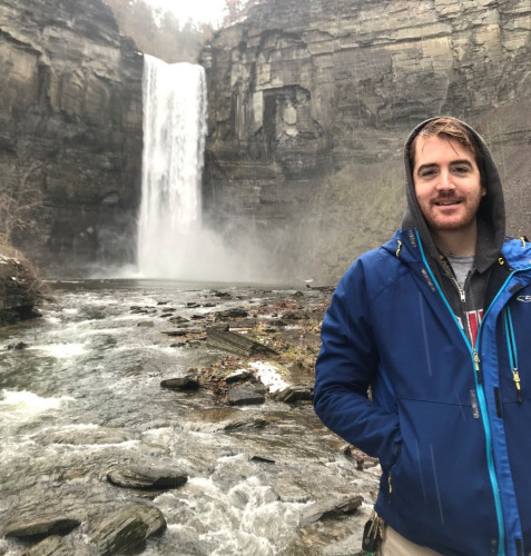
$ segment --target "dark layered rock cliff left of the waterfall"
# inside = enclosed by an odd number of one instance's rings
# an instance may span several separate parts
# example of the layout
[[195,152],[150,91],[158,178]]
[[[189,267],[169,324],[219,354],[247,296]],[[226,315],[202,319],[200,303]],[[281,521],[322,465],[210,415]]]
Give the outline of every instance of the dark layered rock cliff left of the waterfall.
[[0,192],[30,217],[16,245],[45,266],[130,260],[142,58],[110,9],[0,0]]

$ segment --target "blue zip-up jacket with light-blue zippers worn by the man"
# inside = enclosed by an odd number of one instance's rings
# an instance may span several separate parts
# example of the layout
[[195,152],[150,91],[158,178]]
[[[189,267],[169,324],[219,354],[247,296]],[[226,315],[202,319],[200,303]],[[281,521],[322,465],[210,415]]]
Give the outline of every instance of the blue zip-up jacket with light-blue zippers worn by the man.
[[531,554],[531,247],[502,254],[475,346],[415,228],[354,262],[322,326],[317,415],[380,458],[383,519],[444,555]]

